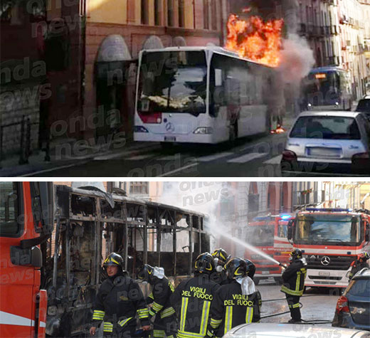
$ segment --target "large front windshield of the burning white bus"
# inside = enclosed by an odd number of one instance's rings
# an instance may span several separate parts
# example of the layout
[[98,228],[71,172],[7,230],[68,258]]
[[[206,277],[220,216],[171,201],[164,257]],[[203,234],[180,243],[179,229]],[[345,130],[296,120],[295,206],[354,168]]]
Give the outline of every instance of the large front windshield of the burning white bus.
[[147,52],[139,75],[139,112],[206,112],[206,54]]

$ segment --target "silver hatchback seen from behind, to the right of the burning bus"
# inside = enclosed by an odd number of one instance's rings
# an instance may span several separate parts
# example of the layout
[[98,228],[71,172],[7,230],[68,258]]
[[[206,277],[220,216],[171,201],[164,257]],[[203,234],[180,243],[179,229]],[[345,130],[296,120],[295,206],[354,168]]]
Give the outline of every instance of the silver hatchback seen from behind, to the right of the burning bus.
[[370,173],[370,122],[361,112],[302,112],[289,132],[281,171]]

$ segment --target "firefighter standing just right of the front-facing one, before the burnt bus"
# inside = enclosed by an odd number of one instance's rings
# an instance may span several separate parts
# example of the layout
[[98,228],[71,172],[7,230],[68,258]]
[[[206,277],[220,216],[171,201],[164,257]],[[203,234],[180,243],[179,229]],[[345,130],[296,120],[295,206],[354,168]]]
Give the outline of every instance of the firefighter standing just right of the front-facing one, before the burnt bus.
[[149,317],[155,316],[153,337],[165,335],[167,338],[176,337],[175,310],[169,302],[174,287],[164,275],[164,269],[144,264],[137,278],[152,285],[152,293],[147,297],[147,304],[152,304]]

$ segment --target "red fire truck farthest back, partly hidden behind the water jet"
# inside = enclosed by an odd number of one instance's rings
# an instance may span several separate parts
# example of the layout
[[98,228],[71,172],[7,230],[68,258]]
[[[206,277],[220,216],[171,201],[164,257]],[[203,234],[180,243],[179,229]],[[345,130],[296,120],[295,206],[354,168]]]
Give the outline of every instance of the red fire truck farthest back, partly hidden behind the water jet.
[[[286,264],[292,250],[292,245],[287,241],[287,224],[290,218],[292,218],[290,215],[253,218],[253,221],[248,223],[246,242],[279,263]],[[270,277],[281,282],[281,266],[249,249],[245,250],[245,258],[255,263],[255,284]]]

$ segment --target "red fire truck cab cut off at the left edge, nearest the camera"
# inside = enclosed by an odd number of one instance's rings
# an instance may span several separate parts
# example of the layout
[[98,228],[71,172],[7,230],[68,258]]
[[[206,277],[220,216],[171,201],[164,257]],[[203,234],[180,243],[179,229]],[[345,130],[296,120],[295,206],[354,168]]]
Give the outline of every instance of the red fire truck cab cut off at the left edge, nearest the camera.
[[45,337],[40,245],[51,234],[50,182],[0,182],[0,337]]

